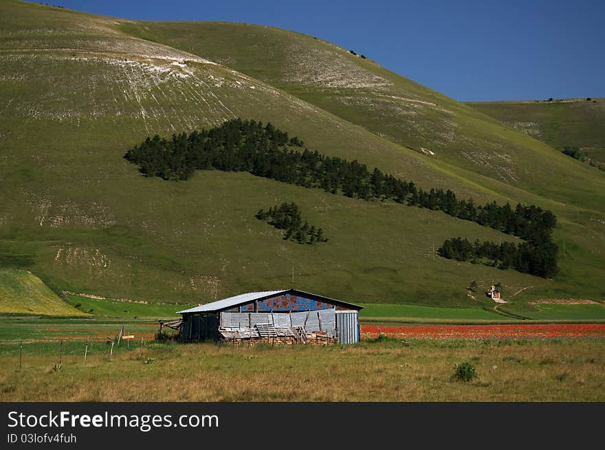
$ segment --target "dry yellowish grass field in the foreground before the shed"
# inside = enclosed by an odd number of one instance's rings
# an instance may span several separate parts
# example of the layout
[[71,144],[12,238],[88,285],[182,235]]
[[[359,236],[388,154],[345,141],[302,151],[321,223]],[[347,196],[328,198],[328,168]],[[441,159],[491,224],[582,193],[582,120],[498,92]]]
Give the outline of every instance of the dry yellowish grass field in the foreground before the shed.
[[[603,341],[364,341],[155,346],[0,358],[1,401],[604,401]],[[144,363],[147,361],[147,363]],[[478,378],[450,380],[470,361]]]

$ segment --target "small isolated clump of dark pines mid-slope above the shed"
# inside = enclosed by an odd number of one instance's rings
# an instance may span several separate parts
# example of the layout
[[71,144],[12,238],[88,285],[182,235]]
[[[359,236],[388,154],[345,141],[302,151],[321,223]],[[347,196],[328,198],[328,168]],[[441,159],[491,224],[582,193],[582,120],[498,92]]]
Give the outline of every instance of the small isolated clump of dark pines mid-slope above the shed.
[[268,221],[277,229],[284,230],[284,239],[296,240],[298,243],[313,244],[316,242],[327,242],[328,238],[324,236],[321,228],[315,225],[309,225],[309,222],[303,222],[300,216],[300,210],[296,203],[282,203],[279,206],[272,206],[269,210],[259,210],[256,218],[261,221]]

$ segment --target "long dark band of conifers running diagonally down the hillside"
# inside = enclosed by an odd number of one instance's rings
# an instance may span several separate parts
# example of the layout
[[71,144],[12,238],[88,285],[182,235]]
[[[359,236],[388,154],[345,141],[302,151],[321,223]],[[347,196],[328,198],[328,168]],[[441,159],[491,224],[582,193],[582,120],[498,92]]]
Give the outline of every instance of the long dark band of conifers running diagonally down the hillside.
[[[540,254],[544,258],[536,260],[552,259],[555,262],[551,269],[539,267],[540,262],[530,264],[529,261],[511,267],[527,267],[527,273],[547,277],[557,271],[557,247],[551,241],[556,218],[552,212],[535,205],[518,204],[513,209],[509,203],[500,206],[495,201],[483,206],[475,205],[472,199],[457,199],[451,190],[423,190],[412,181],[395,178],[378,168],[370,171],[357,160],[329,157],[317,150],[304,148],[298,137],[291,138],[270,123],[238,118],[210,130],[173,134],[171,139],[155,135],[128,150],[124,157],[137,164],[146,177],[186,180],[195,170],[245,171],[305,188],[320,188],[333,194],[341,193],[363,200],[390,199],[409,206],[443,211],[527,240],[531,252],[520,251],[520,258],[529,258],[529,253]],[[452,255],[455,253],[442,252],[445,258],[456,257]]]

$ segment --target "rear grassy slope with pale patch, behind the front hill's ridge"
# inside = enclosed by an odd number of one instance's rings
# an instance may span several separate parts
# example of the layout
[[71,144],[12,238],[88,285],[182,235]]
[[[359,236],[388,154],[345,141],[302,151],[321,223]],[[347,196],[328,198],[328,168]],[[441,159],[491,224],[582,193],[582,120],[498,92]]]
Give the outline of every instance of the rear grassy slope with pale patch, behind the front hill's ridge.
[[[535,139],[314,36],[243,23],[120,21],[118,28],[263,80],[496,192],[514,186],[572,203],[588,194],[586,180],[605,187],[602,174],[570,170],[566,157]],[[598,196],[583,204],[598,208],[605,200]]]

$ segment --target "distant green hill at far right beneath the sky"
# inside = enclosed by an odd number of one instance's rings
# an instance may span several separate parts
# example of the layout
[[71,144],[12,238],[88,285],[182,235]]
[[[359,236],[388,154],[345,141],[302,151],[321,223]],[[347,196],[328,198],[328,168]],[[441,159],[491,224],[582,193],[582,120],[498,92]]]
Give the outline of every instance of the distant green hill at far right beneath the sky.
[[554,148],[576,147],[605,164],[605,98],[469,102],[469,106]]

